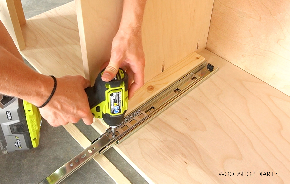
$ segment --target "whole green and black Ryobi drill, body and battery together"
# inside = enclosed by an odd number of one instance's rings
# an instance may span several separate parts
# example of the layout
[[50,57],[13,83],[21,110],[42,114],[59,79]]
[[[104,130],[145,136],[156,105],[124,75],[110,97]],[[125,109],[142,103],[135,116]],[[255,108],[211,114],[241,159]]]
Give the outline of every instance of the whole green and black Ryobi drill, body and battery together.
[[[99,73],[92,87],[85,89],[95,118],[103,118],[112,127],[124,119],[128,109],[128,75],[119,69],[110,82],[102,81]],[[39,145],[41,115],[33,104],[0,94],[0,147],[3,153],[29,150]]]

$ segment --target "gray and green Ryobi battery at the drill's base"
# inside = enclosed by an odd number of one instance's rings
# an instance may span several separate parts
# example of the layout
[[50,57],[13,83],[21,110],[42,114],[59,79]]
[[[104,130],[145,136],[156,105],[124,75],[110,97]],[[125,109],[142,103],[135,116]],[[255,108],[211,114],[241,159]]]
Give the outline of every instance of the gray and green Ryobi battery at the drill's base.
[[4,154],[39,144],[41,116],[34,105],[0,94],[0,147]]

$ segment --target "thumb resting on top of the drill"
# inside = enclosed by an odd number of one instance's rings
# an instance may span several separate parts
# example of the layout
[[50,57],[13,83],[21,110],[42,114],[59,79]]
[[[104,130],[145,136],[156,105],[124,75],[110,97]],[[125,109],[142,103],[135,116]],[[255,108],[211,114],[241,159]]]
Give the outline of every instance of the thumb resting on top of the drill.
[[113,79],[113,77],[117,75],[120,63],[122,62],[122,57],[119,57],[119,59],[117,59],[116,57],[114,57],[114,55],[115,54],[112,53],[110,62],[102,75],[102,80],[105,82],[109,82]]

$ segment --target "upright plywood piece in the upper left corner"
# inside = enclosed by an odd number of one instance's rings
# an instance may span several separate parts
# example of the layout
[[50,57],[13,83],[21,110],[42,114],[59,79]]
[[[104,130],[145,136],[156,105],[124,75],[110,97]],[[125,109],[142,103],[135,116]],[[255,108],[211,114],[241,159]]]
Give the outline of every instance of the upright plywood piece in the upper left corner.
[[[19,7],[19,4],[21,5],[19,1],[20,0],[0,0],[0,20],[8,30],[17,48],[22,50],[26,46],[19,22],[25,24],[25,17],[23,10],[21,12],[22,7]],[[16,4],[14,4],[14,2]]]

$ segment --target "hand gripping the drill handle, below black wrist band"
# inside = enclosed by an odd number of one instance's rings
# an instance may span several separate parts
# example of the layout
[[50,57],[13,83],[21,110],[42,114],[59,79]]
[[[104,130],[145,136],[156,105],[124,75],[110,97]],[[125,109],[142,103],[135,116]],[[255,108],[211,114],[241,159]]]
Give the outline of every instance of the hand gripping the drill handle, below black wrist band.
[[41,116],[53,127],[77,123],[80,119],[86,125],[92,124],[93,115],[84,91],[89,86],[90,81],[80,75],[57,78],[54,95],[46,106],[39,108]]

